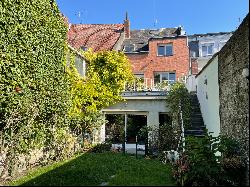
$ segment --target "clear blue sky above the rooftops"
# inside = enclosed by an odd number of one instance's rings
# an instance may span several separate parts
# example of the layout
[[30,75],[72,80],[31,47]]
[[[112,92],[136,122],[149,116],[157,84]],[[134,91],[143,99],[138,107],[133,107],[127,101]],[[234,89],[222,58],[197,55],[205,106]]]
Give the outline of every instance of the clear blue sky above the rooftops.
[[249,12],[248,0],[56,0],[56,2],[70,23],[123,23],[127,11],[132,30],[182,25],[187,34],[233,31]]

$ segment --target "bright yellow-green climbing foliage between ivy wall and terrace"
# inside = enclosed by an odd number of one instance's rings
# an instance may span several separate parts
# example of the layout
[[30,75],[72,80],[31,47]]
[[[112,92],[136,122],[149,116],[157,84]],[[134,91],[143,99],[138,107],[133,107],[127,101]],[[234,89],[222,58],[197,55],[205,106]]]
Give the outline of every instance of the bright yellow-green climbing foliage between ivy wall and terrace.
[[[92,132],[104,123],[98,111],[122,100],[125,81],[133,79],[126,56],[116,51],[94,53],[81,51],[87,61],[87,76],[81,77],[74,66],[75,55],[67,67],[71,81],[72,106],[69,116],[72,129],[78,134]],[[98,119],[98,120],[97,120]],[[84,141],[83,141],[84,142]]]

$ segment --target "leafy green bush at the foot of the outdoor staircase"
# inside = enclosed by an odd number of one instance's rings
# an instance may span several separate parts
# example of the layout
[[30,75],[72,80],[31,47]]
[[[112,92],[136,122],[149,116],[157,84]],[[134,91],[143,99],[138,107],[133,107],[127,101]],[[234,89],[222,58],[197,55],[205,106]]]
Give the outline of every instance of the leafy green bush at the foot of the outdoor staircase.
[[217,138],[187,137],[185,152],[174,165],[174,176],[182,185],[218,185],[222,173],[215,156]]

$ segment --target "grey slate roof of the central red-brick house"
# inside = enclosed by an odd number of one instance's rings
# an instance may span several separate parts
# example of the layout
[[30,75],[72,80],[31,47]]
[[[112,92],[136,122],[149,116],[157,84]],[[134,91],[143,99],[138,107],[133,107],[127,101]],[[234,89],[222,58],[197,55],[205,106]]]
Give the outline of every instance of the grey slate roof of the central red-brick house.
[[122,49],[127,45],[134,45],[134,52],[148,51],[150,38],[164,38],[177,36],[178,28],[131,30],[130,38],[124,40]]

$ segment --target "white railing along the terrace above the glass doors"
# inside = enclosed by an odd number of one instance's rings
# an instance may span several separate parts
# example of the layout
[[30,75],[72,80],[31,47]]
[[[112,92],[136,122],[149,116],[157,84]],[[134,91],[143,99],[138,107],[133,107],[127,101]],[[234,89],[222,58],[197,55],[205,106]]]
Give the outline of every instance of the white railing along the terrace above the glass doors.
[[140,92],[140,91],[169,91],[171,88],[171,84],[174,81],[164,80],[160,83],[155,83],[154,79],[144,78],[136,79],[130,83],[124,83],[124,91],[129,92]]

